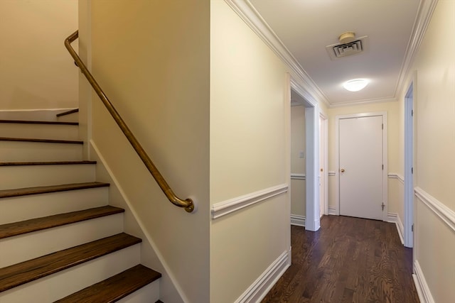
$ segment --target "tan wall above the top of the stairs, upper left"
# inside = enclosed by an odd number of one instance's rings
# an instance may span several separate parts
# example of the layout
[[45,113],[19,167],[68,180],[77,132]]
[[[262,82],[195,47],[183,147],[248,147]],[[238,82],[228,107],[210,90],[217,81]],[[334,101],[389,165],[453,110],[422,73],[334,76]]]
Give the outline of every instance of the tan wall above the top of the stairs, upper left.
[[76,29],[77,0],[0,1],[0,110],[77,107]]

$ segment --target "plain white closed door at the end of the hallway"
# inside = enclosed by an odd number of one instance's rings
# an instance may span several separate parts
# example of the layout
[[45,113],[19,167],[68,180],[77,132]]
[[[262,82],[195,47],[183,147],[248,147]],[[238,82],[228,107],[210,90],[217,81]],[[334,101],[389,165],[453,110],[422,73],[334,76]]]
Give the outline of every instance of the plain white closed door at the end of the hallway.
[[382,220],[382,116],[339,119],[340,214]]

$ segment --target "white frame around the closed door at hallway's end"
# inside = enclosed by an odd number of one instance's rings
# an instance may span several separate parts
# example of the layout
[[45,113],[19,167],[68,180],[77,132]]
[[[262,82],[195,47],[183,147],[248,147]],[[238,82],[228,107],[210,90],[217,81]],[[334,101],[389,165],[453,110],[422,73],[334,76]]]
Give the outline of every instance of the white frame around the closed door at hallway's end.
[[384,211],[382,211],[382,221],[387,221],[388,203],[387,203],[387,112],[379,111],[373,113],[363,114],[348,114],[335,117],[335,204],[336,214],[340,215],[340,119],[350,119],[368,116],[382,116],[382,123],[384,124],[384,131],[382,132],[382,163],[384,169],[382,170],[382,199],[385,204]]

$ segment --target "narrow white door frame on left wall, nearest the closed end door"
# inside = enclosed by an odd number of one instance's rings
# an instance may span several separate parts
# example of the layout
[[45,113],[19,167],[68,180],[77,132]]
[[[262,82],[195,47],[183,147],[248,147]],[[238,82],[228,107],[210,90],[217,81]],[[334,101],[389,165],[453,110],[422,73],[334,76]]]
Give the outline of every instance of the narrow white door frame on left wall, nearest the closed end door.
[[[319,167],[323,170],[319,172],[323,178],[323,209],[322,213],[328,215],[328,119],[323,114],[319,113]],[[322,157],[321,157],[322,156]],[[321,189],[320,189],[321,190]]]

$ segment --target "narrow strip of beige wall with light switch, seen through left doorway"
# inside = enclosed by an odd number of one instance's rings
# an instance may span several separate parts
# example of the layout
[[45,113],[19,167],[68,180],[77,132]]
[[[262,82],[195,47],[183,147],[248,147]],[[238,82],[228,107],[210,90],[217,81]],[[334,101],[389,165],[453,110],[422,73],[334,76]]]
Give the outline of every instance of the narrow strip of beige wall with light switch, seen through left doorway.
[[[291,176],[292,174],[305,174],[305,158],[300,158],[299,153],[305,150],[305,107],[303,105],[291,106]],[[292,179],[292,177],[291,177]],[[305,216],[306,204],[305,180],[291,180],[291,214]]]

